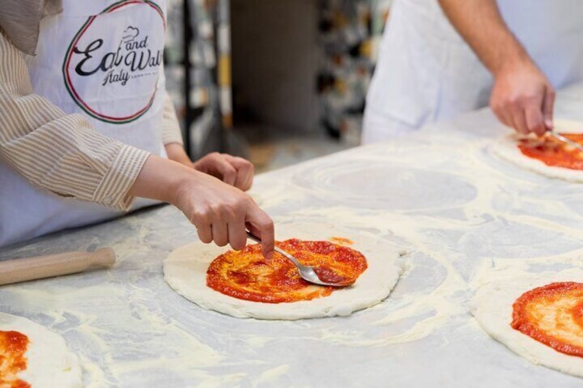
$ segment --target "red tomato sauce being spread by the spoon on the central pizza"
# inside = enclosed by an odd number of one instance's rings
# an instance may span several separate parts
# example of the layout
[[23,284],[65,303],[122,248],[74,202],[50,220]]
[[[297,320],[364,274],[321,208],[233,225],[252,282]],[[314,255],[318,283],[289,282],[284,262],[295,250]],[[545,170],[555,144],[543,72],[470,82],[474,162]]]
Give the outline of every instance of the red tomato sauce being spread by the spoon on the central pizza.
[[[366,258],[355,249],[329,241],[302,241],[296,238],[276,242],[300,263],[314,266],[325,282],[349,285],[367,268]],[[296,266],[279,253],[263,257],[261,244],[241,251],[228,251],[215,258],[206,272],[206,284],[225,295],[263,303],[311,300],[331,295],[336,287],[316,286],[300,277]]]

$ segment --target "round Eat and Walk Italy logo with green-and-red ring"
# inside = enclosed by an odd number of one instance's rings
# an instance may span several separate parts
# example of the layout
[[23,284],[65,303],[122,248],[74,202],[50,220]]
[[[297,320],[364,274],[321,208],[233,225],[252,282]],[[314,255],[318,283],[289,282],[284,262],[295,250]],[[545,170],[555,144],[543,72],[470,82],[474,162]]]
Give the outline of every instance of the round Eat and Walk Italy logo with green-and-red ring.
[[[121,29],[118,19],[131,25]],[[157,91],[164,28],[162,10],[149,0],[119,1],[90,16],[63,61],[65,86],[76,104],[112,124],[144,115]]]

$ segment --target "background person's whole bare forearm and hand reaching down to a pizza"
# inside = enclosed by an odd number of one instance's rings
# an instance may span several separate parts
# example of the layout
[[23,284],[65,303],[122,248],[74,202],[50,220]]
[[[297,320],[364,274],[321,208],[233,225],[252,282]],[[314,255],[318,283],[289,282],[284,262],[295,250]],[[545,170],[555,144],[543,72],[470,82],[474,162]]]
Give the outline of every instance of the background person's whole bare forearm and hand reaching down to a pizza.
[[459,34],[494,76],[489,105],[518,133],[553,127],[553,85],[500,15],[496,0],[439,0]]

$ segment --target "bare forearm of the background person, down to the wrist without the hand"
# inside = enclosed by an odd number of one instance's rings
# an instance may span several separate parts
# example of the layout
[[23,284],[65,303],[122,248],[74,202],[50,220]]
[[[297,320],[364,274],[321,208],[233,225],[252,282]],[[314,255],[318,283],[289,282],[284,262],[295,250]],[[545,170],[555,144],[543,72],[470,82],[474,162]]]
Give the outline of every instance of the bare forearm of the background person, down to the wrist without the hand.
[[500,15],[496,0],[439,0],[450,23],[494,74],[530,57]]

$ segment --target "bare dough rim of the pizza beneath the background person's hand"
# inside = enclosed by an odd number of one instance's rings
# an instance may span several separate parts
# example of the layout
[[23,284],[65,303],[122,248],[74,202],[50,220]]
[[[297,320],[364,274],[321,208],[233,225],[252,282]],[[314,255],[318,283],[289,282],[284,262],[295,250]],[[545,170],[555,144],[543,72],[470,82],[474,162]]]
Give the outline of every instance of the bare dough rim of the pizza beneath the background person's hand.
[[[582,133],[583,122],[573,122],[569,120],[556,119],[555,128],[560,133]],[[497,139],[492,145],[492,150],[496,155],[516,166],[548,176],[549,178],[564,179],[571,182],[583,182],[583,170],[570,170],[569,168],[547,166],[538,159],[527,157],[522,154],[518,147],[520,135],[511,133]]]

